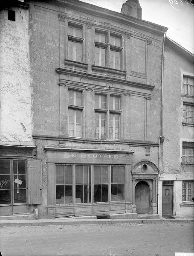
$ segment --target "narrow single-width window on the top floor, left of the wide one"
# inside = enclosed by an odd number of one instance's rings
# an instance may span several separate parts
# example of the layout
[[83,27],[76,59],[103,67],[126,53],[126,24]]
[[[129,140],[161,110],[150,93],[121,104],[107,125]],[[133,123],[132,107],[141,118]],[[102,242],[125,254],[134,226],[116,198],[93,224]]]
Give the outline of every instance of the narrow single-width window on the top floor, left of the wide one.
[[68,25],[68,58],[72,61],[82,61],[82,27]]

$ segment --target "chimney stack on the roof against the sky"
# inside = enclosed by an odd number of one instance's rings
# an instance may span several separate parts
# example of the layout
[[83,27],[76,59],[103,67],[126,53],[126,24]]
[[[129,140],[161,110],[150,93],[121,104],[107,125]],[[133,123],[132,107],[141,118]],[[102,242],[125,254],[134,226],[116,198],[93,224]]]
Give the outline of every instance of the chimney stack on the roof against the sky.
[[142,7],[139,4],[139,0],[127,0],[122,5],[121,13],[142,19]]

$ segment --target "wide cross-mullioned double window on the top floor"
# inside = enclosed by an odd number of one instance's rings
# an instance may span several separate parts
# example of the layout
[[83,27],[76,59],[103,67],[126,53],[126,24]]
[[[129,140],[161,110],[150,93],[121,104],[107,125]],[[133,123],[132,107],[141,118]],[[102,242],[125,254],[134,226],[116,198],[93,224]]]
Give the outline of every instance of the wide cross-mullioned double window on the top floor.
[[95,31],[95,65],[121,69],[122,37]]

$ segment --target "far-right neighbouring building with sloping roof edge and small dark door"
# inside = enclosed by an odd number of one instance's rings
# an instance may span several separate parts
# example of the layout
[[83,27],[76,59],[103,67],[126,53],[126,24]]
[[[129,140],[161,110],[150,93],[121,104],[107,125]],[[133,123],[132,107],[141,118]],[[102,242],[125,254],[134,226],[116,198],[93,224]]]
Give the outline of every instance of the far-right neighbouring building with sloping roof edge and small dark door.
[[165,39],[160,215],[194,216],[194,55]]

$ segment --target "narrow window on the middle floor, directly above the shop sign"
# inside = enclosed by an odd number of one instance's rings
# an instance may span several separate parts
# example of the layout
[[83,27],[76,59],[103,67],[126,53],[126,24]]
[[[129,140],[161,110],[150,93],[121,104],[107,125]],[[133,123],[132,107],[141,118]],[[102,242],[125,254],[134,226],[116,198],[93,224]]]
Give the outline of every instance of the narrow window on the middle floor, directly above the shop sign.
[[82,93],[69,89],[69,137],[81,138]]

